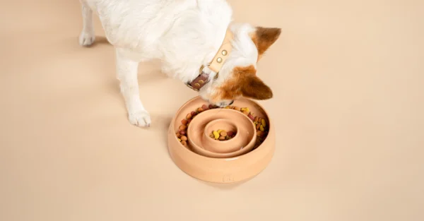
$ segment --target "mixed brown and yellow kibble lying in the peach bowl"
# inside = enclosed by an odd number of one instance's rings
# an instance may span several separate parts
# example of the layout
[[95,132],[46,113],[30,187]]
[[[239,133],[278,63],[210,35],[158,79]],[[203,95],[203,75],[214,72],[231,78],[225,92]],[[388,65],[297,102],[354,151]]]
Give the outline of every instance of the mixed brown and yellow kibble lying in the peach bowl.
[[[184,147],[188,148],[188,137],[187,137],[187,127],[189,126],[190,122],[194,117],[196,117],[197,114],[200,114],[201,112],[205,112],[208,109],[216,109],[217,106],[213,104],[203,104],[201,107],[196,108],[194,112],[190,112],[187,114],[185,119],[182,119],[181,124],[178,128],[177,133],[175,135],[177,136],[178,141],[184,145]],[[252,120],[256,130],[257,130],[257,141],[254,146],[254,149],[259,147],[262,142],[264,142],[266,135],[268,134],[269,127],[266,124],[266,119],[263,119],[261,117],[255,116],[252,112],[250,112],[248,107],[236,107],[236,106],[227,106],[224,107],[225,109],[234,109],[236,111],[242,112],[242,114],[245,114],[247,117],[249,117],[250,120]],[[217,141],[228,141],[231,138],[235,137],[234,131],[223,131],[223,130],[216,130],[212,131],[212,133],[209,135],[211,138],[217,140]]]

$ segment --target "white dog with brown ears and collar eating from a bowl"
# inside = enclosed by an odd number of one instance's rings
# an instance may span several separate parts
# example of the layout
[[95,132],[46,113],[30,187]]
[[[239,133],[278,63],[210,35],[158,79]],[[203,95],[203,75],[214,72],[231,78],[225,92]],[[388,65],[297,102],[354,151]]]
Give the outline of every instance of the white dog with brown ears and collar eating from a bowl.
[[95,41],[93,12],[115,48],[119,88],[129,121],[150,126],[140,100],[139,62],[160,59],[161,70],[218,107],[238,97],[268,100],[272,90],[257,76],[257,62],[281,34],[280,28],[232,23],[225,0],[80,0],[79,44]]

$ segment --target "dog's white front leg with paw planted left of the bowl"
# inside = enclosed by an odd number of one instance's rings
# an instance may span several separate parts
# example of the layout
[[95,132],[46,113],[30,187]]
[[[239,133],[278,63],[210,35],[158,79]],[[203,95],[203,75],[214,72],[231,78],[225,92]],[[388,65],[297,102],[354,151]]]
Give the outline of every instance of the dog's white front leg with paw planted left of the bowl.
[[124,96],[129,121],[136,126],[150,126],[150,114],[144,109],[140,100],[137,80],[139,61],[129,59],[119,49],[116,50],[116,56],[117,78],[120,81],[119,86]]

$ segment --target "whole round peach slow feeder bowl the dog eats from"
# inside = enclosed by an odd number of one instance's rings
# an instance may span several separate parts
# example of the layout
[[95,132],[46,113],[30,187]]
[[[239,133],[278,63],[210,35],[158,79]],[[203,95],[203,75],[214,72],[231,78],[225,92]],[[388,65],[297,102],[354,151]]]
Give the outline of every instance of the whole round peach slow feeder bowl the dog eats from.
[[[254,141],[254,147],[250,150],[247,146],[244,148],[240,147],[241,150],[243,150],[240,151],[235,150],[238,148],[235,147],[237,146],[234,145],[235,143],[232,143],[233,145],[228,145],[227,148],[225,148],[225,145],[218,147],[214,147],[213,145],[202,146],[204,143],[201,139],[206,138],[204,137],[205,133],[197,133],[197,136],[201,137],[199,140],[196,140],[194,137],[190,137],[190,135],[194,135],[191,134],[192,131],[190,129],[202,129],[204,132],[205,128],[208,127],[208,124],[218,124],[220,119],[223,119],[222,121],[230,120],[230,123],[228,123],[229,121],[225,121],[225,124],[221,124],[221,126],[235,126],[240,138],[244,137],[245,139],[248,139],[247,136],[250,134],[243,131],[245,129],[249,129],[249,127],[253,128],[255,126],[251,119],[246,116],[239,115],[242,113],[239,113],[238,110],[225,108],[199,110],[199,107],[202,107],[203,105],[209,104],[201,99],[201,97],[194,97],[179,108],[177,114],[175,114],[175,117],[171,121],[168,130],[168,149],[170,151],[170,157],[179,169],[182,169],[183,172],[196,179],[213,183],[233,183],[243,181],[256,176],[265,169],[271,161],[275,150],[275,129],[273,127],[273,121],[270,120],[269,115],[264,108],[257,102],[245,98],[235,100],[235,102],[231,105],[239,108],[247,107],[249,108],[249,112],[254,113],[254,116],[266,121],[266,135],[263,136],[264,134],[262,132],[258,133],[261,134],[261,137],[256,137],[257,141]],[[187,119],[187,114],[196,112],[196,110],[200,113],[196,114],[193,119],[190,119],[191,121],[188,124],[189,126],[184,132],[187,133],[185,136],[187,136],[188,141],[183,142],[184,144],[187,142],[186,145],[183,145],[177,138],[176,133],[179,133],[182,120],[185,121]],[[231,121],[232,117],[230,117],[230,114],[234,114],[234,116],[238,116],[240,119],[241,117],[249,119],[250,122],[247,124],[249,126],[242,126],[243,124],[240,124],[240,121]],[[182,128],[184,128],[184,126],[182,126]],[[254,132],[256,133],[256,126],[254,129]],[[206,131],[206,133],[209,133],[209,131]],[[232,139],[237,138],[237,133]],[[257,134],[254,136],[256,135]],[[193,139],[194,143],[192,143]],[[229,141],[232,141],[232,139]],[[206,140],[206,143],[207,142],[208,141]],[[216,142],[223,143],[227,141]],[[228,143],[231,144],[231,142]],[[223,155],[230,155],[230,157]]]

